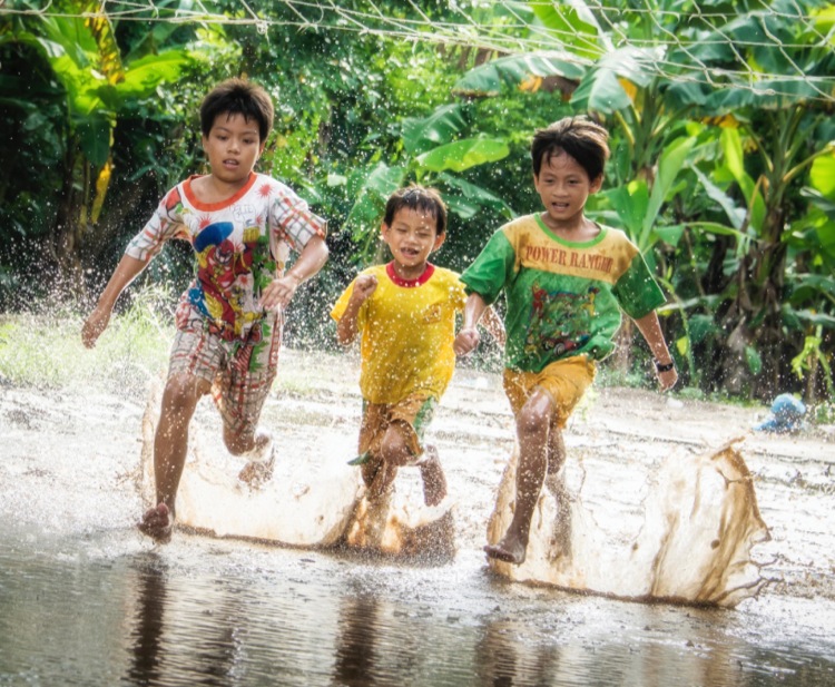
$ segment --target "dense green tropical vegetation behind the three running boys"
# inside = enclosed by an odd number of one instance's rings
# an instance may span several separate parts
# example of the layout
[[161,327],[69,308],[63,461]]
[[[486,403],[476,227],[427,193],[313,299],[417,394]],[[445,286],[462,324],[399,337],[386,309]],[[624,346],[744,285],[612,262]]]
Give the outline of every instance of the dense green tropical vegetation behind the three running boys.
[[[831,2],[41,4],[0,7],[2,311],[87,307],[165,190],[203,169],[203,95],[244,75],[277,107],[262,170],[330,220],[289,343],[333,345],[328,306],[375,259],[391,190],[443,192],[438,262],[461,269],[538,208],[532,131],[584,112],[613,151],[589,210],[656,271],[684,383],[833,398]],[[189,265],[173,245],[144,278],[176,293]],[[610,365],[646,371],[623,337]]]

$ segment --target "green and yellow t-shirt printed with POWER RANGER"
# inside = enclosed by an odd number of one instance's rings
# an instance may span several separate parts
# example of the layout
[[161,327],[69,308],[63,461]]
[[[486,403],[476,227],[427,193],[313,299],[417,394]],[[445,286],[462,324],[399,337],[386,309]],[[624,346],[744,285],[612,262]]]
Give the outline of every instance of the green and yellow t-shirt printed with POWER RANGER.
[[601,227],[593,239],[571,243],[539,215],[493,234],[461,281],[488,304],[504,289],[505,366],[523,372],[572,355],[602,360],[615,347],[621,308],[637,320],[665,302],[626,234]]

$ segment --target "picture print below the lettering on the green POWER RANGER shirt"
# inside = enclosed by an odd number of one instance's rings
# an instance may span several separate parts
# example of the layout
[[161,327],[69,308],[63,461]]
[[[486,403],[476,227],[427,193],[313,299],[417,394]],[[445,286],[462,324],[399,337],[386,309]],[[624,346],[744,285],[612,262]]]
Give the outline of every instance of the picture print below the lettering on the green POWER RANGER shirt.
[[549,293],[538,283],[532,287],[531,318],[525,336],[527,355],[561,357],[582,347],[591,337],[596,286],[586,293]]

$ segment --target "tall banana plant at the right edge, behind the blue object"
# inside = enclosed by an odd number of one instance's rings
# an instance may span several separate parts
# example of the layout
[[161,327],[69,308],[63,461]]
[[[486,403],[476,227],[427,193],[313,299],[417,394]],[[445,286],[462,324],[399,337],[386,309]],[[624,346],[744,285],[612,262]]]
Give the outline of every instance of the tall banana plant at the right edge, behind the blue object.
[[[729,78],[724,88],[678,84],[669,92],[721,120],[720,159],[701,176],[708,193],[718,189],[726,198],[721,207],[738,232],[736,246],[717,244],[735,251],[735,274],[716,294],[719,328],[737,333],[746,351],[756,352],[749,356],[757,361],[749,370],[749,389],[764,399],[792,383],[785,361],[808,335],[809,323],[798,324],[808,320],[799,302],[792,306],[794,265],[831,269],[833,264],[835,225],[826,210],[832,207],[835,131],[827,105],[832,96],[821,88],[835,67],[832,41],[824,40],[833,7],[777,1],[769,10],[739,13],[705,36],[691,56],[717,71],[743,57],[749,67],[746,80]],[[826,316],[816,320],[831,326]]]

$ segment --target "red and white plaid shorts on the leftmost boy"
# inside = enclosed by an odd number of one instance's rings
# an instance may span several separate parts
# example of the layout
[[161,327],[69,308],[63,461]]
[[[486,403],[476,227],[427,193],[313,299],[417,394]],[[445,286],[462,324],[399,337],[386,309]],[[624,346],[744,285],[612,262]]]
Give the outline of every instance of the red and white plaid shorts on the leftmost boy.
[[224,425],[237,434],[255,432],[278,367],[282,327],[269,313],[248,338],[227,341],[195,315],[178,322],[168,376],[189,374],[212,383]]

